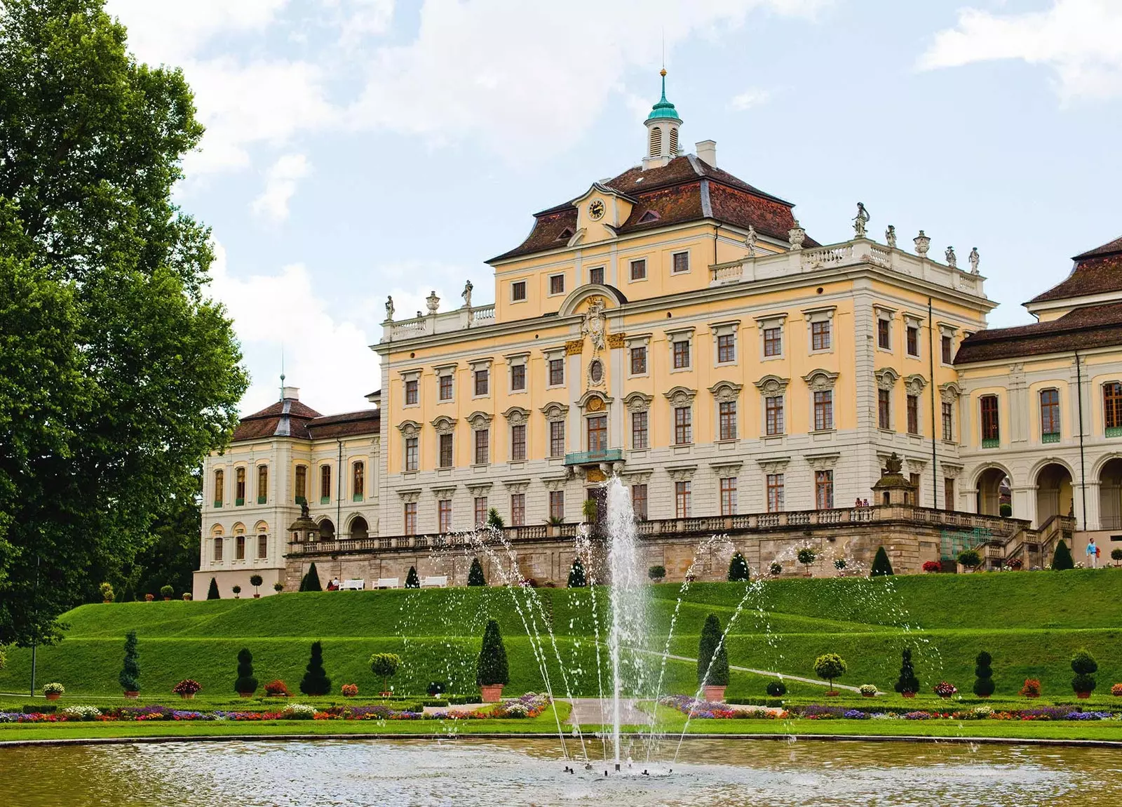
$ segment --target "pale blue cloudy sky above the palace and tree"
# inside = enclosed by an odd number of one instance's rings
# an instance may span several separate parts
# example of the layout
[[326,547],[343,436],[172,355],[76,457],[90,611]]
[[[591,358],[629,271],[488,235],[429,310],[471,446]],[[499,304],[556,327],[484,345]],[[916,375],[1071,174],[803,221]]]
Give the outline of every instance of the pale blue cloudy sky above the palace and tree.
[[[991,327],[1122,235],[1122,0],[108,0],[206,126],[177,203],[252,382],[369,406],[398,318],[494,299],[532,213],[636,165],[666,93],[682,143],[795,207],[822,244],[856,203],[883,240],[977,247]],[[690,150],[693,150],[690,148]]]

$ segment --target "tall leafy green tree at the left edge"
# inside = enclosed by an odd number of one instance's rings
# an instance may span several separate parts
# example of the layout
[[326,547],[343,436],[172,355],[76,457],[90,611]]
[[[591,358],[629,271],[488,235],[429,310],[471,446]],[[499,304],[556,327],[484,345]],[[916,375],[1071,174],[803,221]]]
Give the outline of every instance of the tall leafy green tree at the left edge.
[[57,638],[237,423],[210,231],[172,202],[202,131],[102,0],[0,4],[0,643]]

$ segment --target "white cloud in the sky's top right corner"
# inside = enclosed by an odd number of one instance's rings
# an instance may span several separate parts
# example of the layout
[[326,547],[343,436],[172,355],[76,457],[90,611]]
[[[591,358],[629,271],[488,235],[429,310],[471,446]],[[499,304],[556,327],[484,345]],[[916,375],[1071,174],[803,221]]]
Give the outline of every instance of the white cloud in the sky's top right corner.
[[1063,100],[1122,95],[1122,2],[1054,0],[1046,11],[997,16],[958,12],[935,35],[920,70],[992,59],[1022,59],[1055,71]]

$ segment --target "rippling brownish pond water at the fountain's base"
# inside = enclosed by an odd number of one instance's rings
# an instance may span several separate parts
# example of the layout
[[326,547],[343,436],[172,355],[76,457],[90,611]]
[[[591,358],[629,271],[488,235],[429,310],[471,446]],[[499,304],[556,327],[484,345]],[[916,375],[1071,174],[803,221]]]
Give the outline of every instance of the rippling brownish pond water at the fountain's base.
[[673,773],[564,773],[546,741],[273,741],[0,750],[2,803],[50,805],[1122,804],[1122,754],[1097,749],[692,740]]

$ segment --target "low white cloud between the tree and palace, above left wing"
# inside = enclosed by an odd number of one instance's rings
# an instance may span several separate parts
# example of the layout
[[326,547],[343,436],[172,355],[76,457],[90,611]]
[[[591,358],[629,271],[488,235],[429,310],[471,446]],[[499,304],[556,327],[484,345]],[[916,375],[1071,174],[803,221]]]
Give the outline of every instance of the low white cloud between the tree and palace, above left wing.
[[[252,375],[242,414],[277,400],[282,346],[286,383],[301,387],[309,406],[331,414],[370,405],[366,394],[381,385],[378,359],[369,348],[377,337],[332,312],[305,266],[234,277],[226,250],[215,245],[211,275],[211,295],[226,304]],[[380,321],[381,312],[367,319]]]

